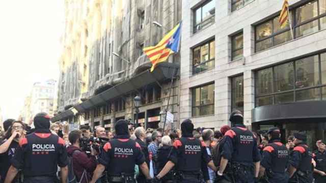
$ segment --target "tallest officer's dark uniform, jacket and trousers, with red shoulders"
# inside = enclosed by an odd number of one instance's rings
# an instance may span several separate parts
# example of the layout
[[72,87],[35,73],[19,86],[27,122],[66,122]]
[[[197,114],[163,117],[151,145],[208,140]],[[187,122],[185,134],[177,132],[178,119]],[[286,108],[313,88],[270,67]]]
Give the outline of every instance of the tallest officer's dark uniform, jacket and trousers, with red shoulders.
[[254,182],[254,162],[260,161],[256,137],[244,125],[225,133],[222,157],[229,160],[235,182]]

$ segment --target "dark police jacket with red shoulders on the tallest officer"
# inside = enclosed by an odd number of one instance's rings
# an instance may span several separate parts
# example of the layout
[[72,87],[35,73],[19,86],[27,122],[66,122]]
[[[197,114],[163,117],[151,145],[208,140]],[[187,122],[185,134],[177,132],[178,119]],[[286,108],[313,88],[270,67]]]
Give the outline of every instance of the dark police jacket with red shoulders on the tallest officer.
[[244,125],[235,125],[225,133],[225,144],[221,155],[231,163],[251,164],[259,162],[261,158],[256,136]]

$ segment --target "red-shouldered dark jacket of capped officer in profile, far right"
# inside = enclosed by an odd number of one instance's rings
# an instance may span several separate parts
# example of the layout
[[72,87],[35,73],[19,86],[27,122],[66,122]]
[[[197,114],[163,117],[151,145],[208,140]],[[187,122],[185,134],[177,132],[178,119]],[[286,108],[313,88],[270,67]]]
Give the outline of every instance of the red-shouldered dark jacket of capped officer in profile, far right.
[[306,144],[297,144],[290,156],[290,165],[297,169],[297,171],[302,171],[306,173],[312,172],[312,153]]

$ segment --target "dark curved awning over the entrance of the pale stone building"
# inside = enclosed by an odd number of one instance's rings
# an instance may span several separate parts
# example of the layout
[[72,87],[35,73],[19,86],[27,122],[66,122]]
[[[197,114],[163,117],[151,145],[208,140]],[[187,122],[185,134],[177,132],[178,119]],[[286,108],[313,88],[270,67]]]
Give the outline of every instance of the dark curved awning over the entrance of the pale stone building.
[[326,101],[292,102],[256,107],[252,110],[252,117],[253,123],[280,120],[324,120],[326,119],[324,109],[326,109]]

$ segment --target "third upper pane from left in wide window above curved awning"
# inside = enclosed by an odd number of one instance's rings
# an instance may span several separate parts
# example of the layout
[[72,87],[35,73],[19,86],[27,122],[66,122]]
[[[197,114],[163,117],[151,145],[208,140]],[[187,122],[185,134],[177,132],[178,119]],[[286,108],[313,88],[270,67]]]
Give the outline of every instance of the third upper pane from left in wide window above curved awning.
[[295,62],[295,87],[315,86],[319,82],[318,55],[310,56]]

